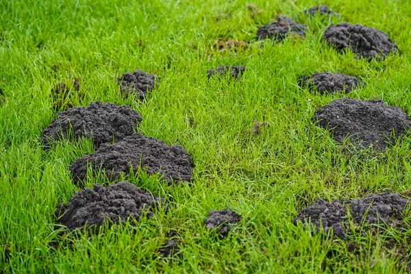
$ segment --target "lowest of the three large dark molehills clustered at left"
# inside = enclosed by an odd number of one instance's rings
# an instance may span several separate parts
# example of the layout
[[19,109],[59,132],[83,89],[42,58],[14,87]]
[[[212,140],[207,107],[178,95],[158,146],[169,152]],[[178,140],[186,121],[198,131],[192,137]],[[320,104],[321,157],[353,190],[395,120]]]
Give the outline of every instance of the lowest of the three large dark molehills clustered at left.
[[112,223],[125,223],[129,217],[138,220],[145,213],[151,216],[151,208],[160,201],[161,197],[153,197],[127,181],[108,188],[95,184],[94,188],[79,190],[64,206],[60,204],[55,216],[57,223],[69,229],[82,230],[85,225],[98,228],[108,219]]

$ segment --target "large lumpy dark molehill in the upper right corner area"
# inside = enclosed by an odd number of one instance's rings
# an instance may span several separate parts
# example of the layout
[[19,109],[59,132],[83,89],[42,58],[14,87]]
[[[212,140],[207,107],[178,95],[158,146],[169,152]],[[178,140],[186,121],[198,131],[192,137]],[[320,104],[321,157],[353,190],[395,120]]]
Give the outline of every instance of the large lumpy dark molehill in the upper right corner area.
[[340,51],[351,49],[363,58],[384,58],[390,52],[398,51],[397,44],[391,41],[388,34],[360,24],[332,25],[325,31],[323,39]]

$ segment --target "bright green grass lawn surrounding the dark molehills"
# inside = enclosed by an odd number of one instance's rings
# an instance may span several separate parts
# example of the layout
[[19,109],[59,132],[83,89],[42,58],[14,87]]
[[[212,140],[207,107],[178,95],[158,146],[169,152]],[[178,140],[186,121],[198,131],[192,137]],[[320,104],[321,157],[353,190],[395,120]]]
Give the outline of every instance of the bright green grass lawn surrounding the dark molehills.
[[[341,17],[310,18],[327,4]],[[411,113],[407,0],[117,1],[0,0],[0,266],[5,272],[120,273],[401,273],[409,269],[410,231],[356,229],[349,240],[311,234],[292,219],[322,198],[355,199],[369,192],[409,194],[411,134],[384,153],[341,153],[314,112],[341,98],[297,86],[301,74],[356,75],[348,96],[383,99]],[[254,40],[279,14],[308,25],[306,38]],[[338,54],[321,41],[331,23],[361,23],[387,32],[401,55],[384,61]],[[220,40],[249,47],[217,50]],[[219,65],[244,65],[238,81],[207,79]],[[116,77],[141,69],[161,82],[147,100],[121,96]],[[137,171],[129,182],[169,204],[136,227],[107,227],[99,236],[59,240],[54,210],[78,188],[68,166],[93,151],[90,140],[40,147],[55,111],[91,101],[127,104],[143,118],[139,131],[183,145],[195,162],[191,186],[167,186]],[[79,85],[79,86],[78,86]],[[269,122],[259,134],[254,120]],[[103,182],[88,180],[87,186]],[[202,225],[210,209],[231,208],[242,222],[217,240]],[[406,216],[406,222],[409,223]],[[156,251],[177,231],[181,256]],[[57,242],[57,244],[55,244]]]

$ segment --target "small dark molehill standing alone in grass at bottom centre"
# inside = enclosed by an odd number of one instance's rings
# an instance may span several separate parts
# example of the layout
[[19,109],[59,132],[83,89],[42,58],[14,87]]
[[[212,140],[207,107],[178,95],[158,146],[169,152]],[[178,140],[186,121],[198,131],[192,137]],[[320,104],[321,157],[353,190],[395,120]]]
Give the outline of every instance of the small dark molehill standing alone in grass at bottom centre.
[[225,210],[210,210],[210,215],[203,221],[203,225],[206,225],[206,228],[210,230],[217,229],[219,235],[225,238],[233,225],[240,223],[241,220],[242,217],[229,208]]

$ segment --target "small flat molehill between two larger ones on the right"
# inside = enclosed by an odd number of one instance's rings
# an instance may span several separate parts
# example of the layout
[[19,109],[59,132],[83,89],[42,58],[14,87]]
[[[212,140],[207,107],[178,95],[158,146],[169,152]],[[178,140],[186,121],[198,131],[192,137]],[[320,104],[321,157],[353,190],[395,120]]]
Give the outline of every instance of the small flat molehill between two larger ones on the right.
[[345,93],[351,92],[360,85],[360,80],[356,77],[345,75],[343,73],[314,73],[313,75],[302,75],[298,79],[301,88],[307,86],[310,90],[316,90],[321,95],[325,93],[334,93],[345,90]]

